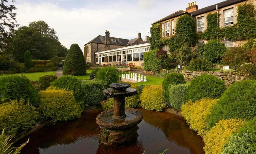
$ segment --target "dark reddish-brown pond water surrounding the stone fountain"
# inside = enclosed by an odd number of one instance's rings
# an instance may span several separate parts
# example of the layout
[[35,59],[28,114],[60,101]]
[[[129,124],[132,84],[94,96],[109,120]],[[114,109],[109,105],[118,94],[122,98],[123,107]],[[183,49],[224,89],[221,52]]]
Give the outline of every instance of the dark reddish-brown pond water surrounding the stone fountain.
[[204,153],[202,138],[186,125],[183,118],[170,113],[142,110],[143,120],[138,124],[136,143],[114,150],[99,147],[99,129],[95,122],[102,110],[82,113],[77,120],[47,126],[32,133],[16,145],[29,143],[23,154],[186,154]]

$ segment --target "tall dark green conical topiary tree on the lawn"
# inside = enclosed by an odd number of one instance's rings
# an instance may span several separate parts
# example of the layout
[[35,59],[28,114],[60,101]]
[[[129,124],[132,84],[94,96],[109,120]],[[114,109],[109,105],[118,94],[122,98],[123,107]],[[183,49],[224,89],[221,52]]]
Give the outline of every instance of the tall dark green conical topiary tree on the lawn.
[[70,46],[63,66],[63,75],[86,75],[84,55],[78,44]]

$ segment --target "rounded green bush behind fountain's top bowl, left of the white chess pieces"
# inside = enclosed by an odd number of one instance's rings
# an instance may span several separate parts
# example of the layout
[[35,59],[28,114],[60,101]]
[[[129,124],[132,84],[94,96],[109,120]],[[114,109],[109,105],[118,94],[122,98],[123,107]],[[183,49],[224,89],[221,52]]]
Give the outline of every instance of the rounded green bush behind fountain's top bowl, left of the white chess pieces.
[[115,67],[103,67],[99,69],[96,78],[106,81],[108,84],[119,82],[119,72]]

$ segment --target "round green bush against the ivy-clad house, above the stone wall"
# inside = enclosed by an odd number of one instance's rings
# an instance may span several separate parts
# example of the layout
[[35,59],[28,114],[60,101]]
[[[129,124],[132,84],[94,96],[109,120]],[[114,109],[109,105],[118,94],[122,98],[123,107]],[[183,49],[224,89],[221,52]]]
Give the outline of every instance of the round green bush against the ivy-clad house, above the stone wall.
[[218,62],[227,51],[224,43],[220,43],[217,40],[209,40],[204,47],[203,57],[212,63]]

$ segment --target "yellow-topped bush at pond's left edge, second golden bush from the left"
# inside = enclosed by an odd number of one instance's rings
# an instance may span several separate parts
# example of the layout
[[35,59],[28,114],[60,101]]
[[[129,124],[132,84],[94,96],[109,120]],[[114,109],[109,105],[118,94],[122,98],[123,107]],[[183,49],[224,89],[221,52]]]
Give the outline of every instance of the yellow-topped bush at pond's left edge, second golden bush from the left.
[[51,120],[51,124],[79,118],[83,109],[74,99],[72,91],[47,89],[40,91],[39,111],[42,116]]

